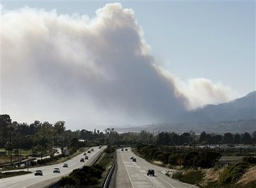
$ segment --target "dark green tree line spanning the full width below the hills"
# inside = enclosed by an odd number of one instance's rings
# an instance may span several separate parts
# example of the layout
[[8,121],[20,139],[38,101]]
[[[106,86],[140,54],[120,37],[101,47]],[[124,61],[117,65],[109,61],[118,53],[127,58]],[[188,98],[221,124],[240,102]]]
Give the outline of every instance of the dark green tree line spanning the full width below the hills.
[[161,132],[149,133],[116,133],[115,129],[108,128],[105,133],[94,129],[89,131],[66,130],[65,122],[60,120],[51,124],[35,120],[32,124],[12,122],[10,115],[0,115],[0,148],[32,148],[33,154],[39,155],[51,150],[53,146],[61,148],[70,145],[72,139],[83,140],[88,145],[108,144],[135,145],[138,142],[156,145],[212,145],[212,144],[253,144],[256,143],[256,131],[253,133],[189,133]]

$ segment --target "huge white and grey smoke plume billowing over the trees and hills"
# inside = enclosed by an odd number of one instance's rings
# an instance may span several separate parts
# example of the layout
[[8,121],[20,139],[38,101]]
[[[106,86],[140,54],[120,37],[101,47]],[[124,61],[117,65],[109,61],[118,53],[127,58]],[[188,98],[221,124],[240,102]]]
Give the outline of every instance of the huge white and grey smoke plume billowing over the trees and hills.
[[[112,3],[96,13],[90,19],[2,7],[1,113],[24,122],[66,120],[81,129],[168,122],[186,104],[225,98],[211,80],[189,82],[188,92],[164,75],[132,10]],[[198,90],[209,98],[198,99]]]

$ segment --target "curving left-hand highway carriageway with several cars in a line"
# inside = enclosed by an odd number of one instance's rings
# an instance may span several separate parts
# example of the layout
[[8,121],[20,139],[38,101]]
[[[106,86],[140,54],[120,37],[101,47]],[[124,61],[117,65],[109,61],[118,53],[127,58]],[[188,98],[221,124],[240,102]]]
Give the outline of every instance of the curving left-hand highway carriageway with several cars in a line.
[[[93,159],[97,157],[97,155],[100,154],[102,150],[106,147],[92,147],[94,149],[91,154],[88,154],[89,159],[84,160],[83,162],[80,162],[81,158],[84,158],[83,153],[77,155],[76,157],[69,159],[68,161],[65,161],[64,163],[68,164],[68,168],[63,168],[63,163],[61,164],[53,164],[49,166],[40,166],[36,168],[30,168],[29,171],[31,171],[31,174],[28,175],[20,175],[17,177],[10,177],[10,178],[1,178],[0,179],[0,187],[4,188],[40,188],[40,187],[47,187],[48,185],[51,185],[54,182],[57,182],[61,177],[67,176],[72,170],[81,168],[84,165],[89,166]],[[90,149],[92,149],[90,148]],[[53,173],[54,168],[60,168],[60,173]],[[36,170],[42,170],[43,176],[35,176],[34,173]],[[24,169],[24,171],[26,171]]]

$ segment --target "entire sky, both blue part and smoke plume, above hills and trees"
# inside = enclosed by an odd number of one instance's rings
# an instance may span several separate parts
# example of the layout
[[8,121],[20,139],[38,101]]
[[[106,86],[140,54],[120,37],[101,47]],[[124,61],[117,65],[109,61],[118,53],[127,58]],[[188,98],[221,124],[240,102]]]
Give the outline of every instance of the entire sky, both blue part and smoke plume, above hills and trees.
[[255,1],[1,3],[1,113],[12,120],[169,122],[255,90]]

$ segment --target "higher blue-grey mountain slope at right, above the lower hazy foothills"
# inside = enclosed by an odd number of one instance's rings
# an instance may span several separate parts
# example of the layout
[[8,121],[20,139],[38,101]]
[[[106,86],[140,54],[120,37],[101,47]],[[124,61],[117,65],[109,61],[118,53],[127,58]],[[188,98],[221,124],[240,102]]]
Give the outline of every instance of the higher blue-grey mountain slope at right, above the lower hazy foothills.
[[220,105],[207,105],[204,108],[185,112],[174,122],[220,122],[250,120],[256,118],[256,92],[250,92],[243,98]]

